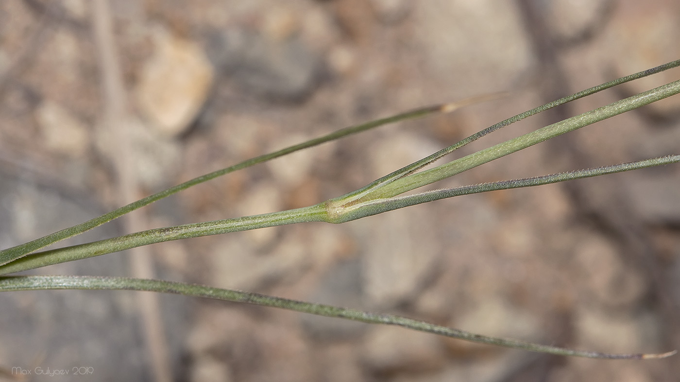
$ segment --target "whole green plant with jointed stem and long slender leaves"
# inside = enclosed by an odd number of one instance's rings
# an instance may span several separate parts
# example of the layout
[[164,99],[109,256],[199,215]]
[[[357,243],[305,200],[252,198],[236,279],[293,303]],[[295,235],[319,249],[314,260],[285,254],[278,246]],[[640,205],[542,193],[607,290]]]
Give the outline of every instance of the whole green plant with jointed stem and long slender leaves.
[[441,159],[445,155],[452,153],[456,149],[467,145],[486,134],[490,134],[500,128],[508,126],[509,124],[530,117],[537,113],[541,113],[547,109],[551,109],[560,104],[571,102],[578,98],[594,94],[601,90],[611,88],[614,85],[619,85],[633,79],[638,79],[658,73],[666,69],[680,66],[680,60],[669,62],[662,66],[658,66],[647,71],[636,73],[627,77],[622,77],[614,81],[598,85],[588,90],[583,90],[572,96],[556,100],[549,104],[545,104],[536,109],[526,111],[525,113],[516,115],[496,123],[496,125],[481,130],[477,134],[473,134],[464,140],[447,147],[437,153],[416,161],[409,166],[396,170],[387,176],[375,180],[373,183],[362,187],[356,191],[352,191],[340,197],[329,199],[326,202],[308,206],[305,208],[298,208],[295,210],[286,210],[282,212],[273,212],[269,214],[260,214],[255,216],[243,216],[239,218],[229,218],[220,221],[209,221],[203,223],[193,223],[188,225],[178,225],[174,227],[165,227],[159,229],[150,229],[148,231],[141,231],[114,237],[107,240],[99,240],[97,242],[90,242],[87,244],[80,244],[77,246],[69,246],[66,248],[58,248],[54,250],[44,250],[36,252],[42,248],[46,248],[56,242],[72,237],[88,231],[94,227],[112,221],[128,212],[146,206],[158,199],[167,197],[173,193],[177,193],[193,185],[203,183],[212,178],[228,174],[236,170],[241,170],[255,164],[260,164],[264,161],[280,157],[294,151],[305,149],[319,145],[329,140],[335,140],[349,134],[362,132],[377,126],[405,119],[422,117],[432,113],[442,113],[452,111],[458,107],[471,102],[477,102],[488,97],[469,98],[463,102],[443,104],[435,107],[427,107],[415,111],[402,113],[393,117],[385,119],[378,119],[369,123],[364,123],[358,126],[352,126],[343,130],[338,130],[332,134],[322,136],[299,145],[294,145],[274,153],[261,155],[243,161],[240,164],[205,174],[198,178],[189,180],[186,183],[171,187],[164,191],[160,191],[154,195],[140,199],[127,206],[123,206],[103,214],[90,221],[75,225],[67,229],[63,229],[56,233],[52,233],[37,240],[20,244],[12,248],[7,248],[0,251],[0,275],[5,275],[0,278],[0,291],[10,290],[39,290],[39,289],[120,289],[120,290],[152,290],[156,292],[171,292],[185,294],[195,297],[207,297],[211,299],[221,299],[226,301],[236,301],[252,303],[257,305],[264,305],[269,307],[280,307],[284,309],[291,309],[294,311],[301,311],[305,313],[312,313],[320,316],[330,316],[337,318],[347,318],[351,320],[358,320],[362,322],[369,322],[374,324],[392,324],[421,330],[424,332],[432,332],[438,335],[445,335],[448,337],[455,337],[467,341],[475,341],[479,343],[488,343],[492,345],[501,345],[507,347],[514,347],[519,349],[526,349],[530,351],[540,351],[549,354],[558,354],[564,356],[581,356],[589,358],[663,358],[675,354],[675,351],[670,351],[663,354],[604,354],[594,351],[579,351],[573,349],[564,349],[561,347],[554,347],[548,345],[539,345],[535,343],[526,343],[516,341],[513,339],[500,339],[494,337],[486,337],[477,335],[462,330],[446,328],[428,324],[426,322],[411,320],[400,316],[393,316],[387,314],[376,314],[364,311],[356,311],[354,309],[345,309],[341,307],[333,307],[329,305],[320,305],[315,303],[305,303],[301,301],[292,301],[289,299],[281,299],[277,297],[265,296],[252,292],[239,292],[235,290],[224,290],[219,288],[210,288],[208,286],[199,286],[184,284],[178,282],[167,282],[161,280],[140,280],[133,278],[100,278],[90,276],[7,276],[10,273],[18,271],[25,271],[28,269],[36,269],[47,265],[56,263],[64,263],[66,261],[74,261],[78,259],[85,259],[100,254],[107,254],[118,252],[137,246],[144,246],[147,244],[154,244],[158,242],[165,242],[169,240],[180,240],[188,237],[199,237],[204,235],[216,235],[221,233],[229,233],[235,231],[245,231],[250,229],[257,229],[262,227],[273,227],[277,225],[288,225],[293,223],[303,223],[310,221],[326,222],[326,223],[344,223],[352,221],[365,216],[371,216],[382,212],[403,208],[406,206],[413,206],[415,204],[422,204],[432,200],[443,199],[447,197],[468,195],[471,193],[480,193],[486,191],[494,191],[500,189],[512,189],[517,187],[530,187],[536,185],[546,185],[549,183],[557,183],[565,180],[573,180],[579,178],[586,178],[592,176],[600,176],[604,174],[612,174],[615,172],[623,172],[635,170],[639,168],[647,168],[650,166],[660,166],[665,164],[672,164],[680,161],[680,155],[668,155],[666,157],[659,157],[654,159],[645,159],[641,161],[633,161],[626,164],[617,164],[613,166],[605,166],[600,168],[592,168],[587,170],[576,170],[572,172],[562,172],[559,174],[551,174],[546,176],[537,176],[534,178],[523,178],[517,180],[503,180],[494,183],[484,183],[481,185],[471,185],[465,187],[455,187],[449,189],[437,189],[435,191],[426,191],[422,193],[403,195],[404,193],[417,189],[424,185],[430,185],[439,180],[449,178],[464,172],[471,168],[475,168],[481,164],[485,164],[494,159],[498,159],[510,153],[520,151],[526,147],[536,145],[544,140],[554,138],[566,132],[577,130],[584,126],[588,126],[596,121],[601,121],[614,115],[619,115],[636,109],[645,104],[656,102],[662,98],[673,96],[680,93],[680,81],[674,81],[654,88],[647,92],[642,92],[634,96],[613,102],[604,107],[588,111],[581,115],[564,119],[558,123],[546,126],[534,132],[524,134],[517,138],[507,140],[488,149],[483,149],[449,161],[446,164],[430,168],[428,170],[421,170],[425,166],[432,164],[432,162]]

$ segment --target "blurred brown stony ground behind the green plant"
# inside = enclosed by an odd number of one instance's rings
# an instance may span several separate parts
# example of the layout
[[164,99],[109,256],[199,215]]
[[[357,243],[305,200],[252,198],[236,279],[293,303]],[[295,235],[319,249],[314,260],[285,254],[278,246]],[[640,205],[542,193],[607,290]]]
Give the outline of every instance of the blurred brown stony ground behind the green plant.
[[[496,121],[680,58],[671,0],[118,0],[133,141],[107,110],[90,1],[0,2],[0,247],[306,138],[427,104],[506,98],[230,174],[143,210],[148,228],[316,204]],[[677,79],[668,71],[533,117],[517,136]],[[678,153],[680,98],[544,142],[441,187]],[[461,154],[456,154],[461,155]],[[159,278],[237,288],[552,345],[680,349],[680,166],[457,197],[343,225],[150,247]],[[437,185],[439,186],[439,185]],[[131,202],[129,200],[127,202]],[[109,223],[83,240],[126,232]],[[81,240],[82,241],[82,240]],[[40,269],[129,275],[108,254]],[[160,297],[175,381],[677,381],[665,360],[561,358],[401,328]],[[152,378],[133,292],[0,294],[0,367]],[[24,376],[26,377],[26,376]],[[2,377],[0,377],[1,379]],[[10,375],[19,378],[18,375]],[[69,376],[65,380],[73,380]]]

